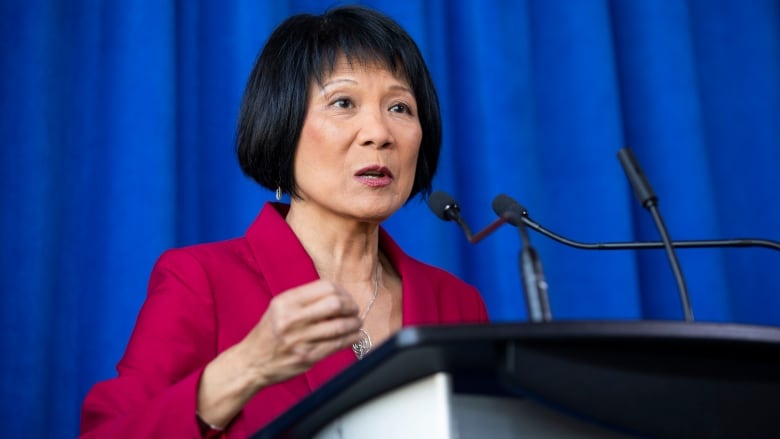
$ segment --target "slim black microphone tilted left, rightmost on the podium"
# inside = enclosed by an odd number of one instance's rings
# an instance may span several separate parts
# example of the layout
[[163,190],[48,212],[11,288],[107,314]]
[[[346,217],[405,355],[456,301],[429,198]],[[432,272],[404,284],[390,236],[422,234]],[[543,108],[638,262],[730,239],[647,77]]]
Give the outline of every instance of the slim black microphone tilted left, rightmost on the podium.
[[664,249],[666,250],[666,256],[669,259],[669,265],[674,273],[675,281],[677,282],[677,290],[680,293],[680,301],[682,302],[683,315],[686,321],[693,321],[693,311],[691,310],[691,302],[688,297],[688,287],[685,285],[685,277],[682,273],[682,267],[677,260],[677,254],[672,247],[672,240],[669,237],[669,232],[666,229],[664,220],[661,217],[661,211],[658,208],[658,196],[655,195],[653,188],[650,186],[645,177],[642,168],[639,166],[639,162],[634,153],[629,148],[621,148],[618,151],[618,159],[625,171],[628,180],[631,182],[631,186],[634,188],[634,195],[639,200],[639,203],[645,209],[649,210],[653,215],[653,221],[655,222],[658,233],[661,235],[661,241],[663,241]]

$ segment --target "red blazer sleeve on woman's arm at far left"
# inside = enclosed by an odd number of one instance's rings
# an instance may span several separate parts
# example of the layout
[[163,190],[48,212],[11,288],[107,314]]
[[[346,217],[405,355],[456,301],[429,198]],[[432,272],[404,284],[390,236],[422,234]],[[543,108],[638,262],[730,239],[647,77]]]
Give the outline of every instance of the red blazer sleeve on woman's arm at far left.
[[155,264],[118,376],[84,400],[83,438],[201,437],[198,381],[217,353],[209,277],[187,249]]

